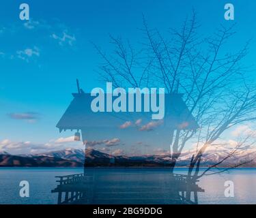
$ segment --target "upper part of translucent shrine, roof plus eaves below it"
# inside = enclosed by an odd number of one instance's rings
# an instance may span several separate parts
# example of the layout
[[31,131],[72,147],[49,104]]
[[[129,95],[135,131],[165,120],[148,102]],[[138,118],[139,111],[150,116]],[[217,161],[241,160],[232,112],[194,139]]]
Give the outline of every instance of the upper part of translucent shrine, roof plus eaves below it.
[[[84,93],[78,84],[78,93],[72,93],[74,99],[61,116],[61,119],[57,123],[56,127],[59,131],[76,131],[74,134],[75,140],[82,140],[86,145],[89,140],[99,140],[100,137],[112,138],[118,137],[122,140],[126,136],[134,137],[135,134],[140,133],[140,139],[148,140],[153,138],[165,139],[165,143],[169,145],[175,135],[179,136],[182,129],[196,130],[199,126],[195,118],[188,110],[188,107],[182,99],[180,93],[165,93],[162,94],[165,97],[165,116],[163,119],[154,120],[152,114],[155,112],[150,108],[145,112],[144,107],[147,101],[145,99],[151,99],[147,96],[149,94],[141,93],[141,112],[93,112],[91,110],[91,102],[95,99],[90,93]],[[104,93],[104,99],[106,99],[106,93]],[[129,93],[126,93],[126,106],[128,106]],[[133,94],[135,95],[135,94]],[[113,101],[117,97],[111,97]],[[156,102],[159,103],[159,96],[156,97]],[[136,96],[133,96],[134,107],[136,107]],[[152,100],[150,100],[152,101]],[[147,102],[149,103],[149,102]],[[106,111],[106,103],[104,104],[104,111]],[[129,122],[131,125],[129,129],[122,128],[124,123]],[[152,123],[157,125],[158,130],[146,129],[143,131],[140,129],[137,123]],[[144,129],[145,130],[145,129]],[[80,133],[82,137],[80,137]]]

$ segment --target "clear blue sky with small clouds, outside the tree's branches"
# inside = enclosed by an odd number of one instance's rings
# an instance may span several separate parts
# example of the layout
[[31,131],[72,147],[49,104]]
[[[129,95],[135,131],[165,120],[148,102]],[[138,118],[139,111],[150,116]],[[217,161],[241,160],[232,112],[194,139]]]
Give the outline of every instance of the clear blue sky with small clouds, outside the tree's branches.
[[[150,27],[157,27],[165,35],[169,27],[180,27],[194,8],[201,23],[200,33],[210,35],[219,25],[233,23],[223,18],[225,3],[233,3],[238,33],[230,41],[230,49],[240,48],[252,38],[244,64],[255,65],[253,0],[25,2],[30,7],[29,21],[18,17],[23,1],[1,1],[0,141],[38,145],[72,136],[70,132],[59,134],[55,125],[72,100],[76,78],[87,92],[104,87],[95,72],[100,57],[91,42],[108,51],[111,33],[127,37],[139,47],[142,14]],[[250,74],[255,79],[255,71]]]

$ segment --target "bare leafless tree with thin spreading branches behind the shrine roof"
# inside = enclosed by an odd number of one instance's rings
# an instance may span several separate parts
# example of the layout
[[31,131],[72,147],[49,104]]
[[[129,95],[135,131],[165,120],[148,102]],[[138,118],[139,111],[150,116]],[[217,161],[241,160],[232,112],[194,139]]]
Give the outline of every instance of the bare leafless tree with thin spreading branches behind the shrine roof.
[[112,54],[95,45],[103,61],[101,78],[115,87],[160,86],[168,93],[184,93],[184,102],[199,129],[175,131],[170,144],[172,170],[192,139],[203,146],[191,159],[191,169],[199,167],[205,150],[214,146],[227,129],[256,119],[256,90],[248,86],[242,65],[248,42],[231,52],[227,42],[235,34],[233,29],[221,26],[210,37],[200,37],[193,12],[180,29],[170,29],[169,36],[164,37],[158,29],[150,29],[143,17],[141,50],[135,51],[130,42],[113,36]]

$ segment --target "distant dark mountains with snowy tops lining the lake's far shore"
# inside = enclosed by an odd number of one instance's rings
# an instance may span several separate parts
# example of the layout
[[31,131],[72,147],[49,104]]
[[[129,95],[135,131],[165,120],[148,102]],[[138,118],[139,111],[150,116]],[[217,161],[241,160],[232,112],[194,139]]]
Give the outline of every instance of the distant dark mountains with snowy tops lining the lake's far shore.
[[[218,159],[205,158],[201,161],[201,168],[208,168]],[[242,159],[236,161],[227,161],[222,163],[218,168],[231,168],[241,162]],[[79,149],[64,149],[60,151],[52,151],[41,153],[38,155],[10,155],[9,153],[0,154],[1,167],[16,168],[171,168],[171,161],[167,156],[152,155],[145,156],[111,156],[96,150],[90,150],[86,154]],[[189,168],[190,157],[186,157],[177,161],[175,168]],[[256,168],[256,162],[240,164],[238,168]]]

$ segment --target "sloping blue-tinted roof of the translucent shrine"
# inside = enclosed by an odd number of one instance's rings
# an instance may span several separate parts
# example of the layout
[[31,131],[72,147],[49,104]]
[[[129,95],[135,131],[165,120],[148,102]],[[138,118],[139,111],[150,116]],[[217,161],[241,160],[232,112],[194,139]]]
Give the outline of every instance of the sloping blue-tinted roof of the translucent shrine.
[[[119,127],[126,121],[136,123],[152,120],[154,112],[93,112],[90,93],[73,93],[74,99],[57,123],[60,131],[66,129],[85,129],[88,127]],[[105,98],[106,98],[106,94]],[[128,94],[126,94],[128,96]],[[128,97],[126,97],[128,99]],[[115,97],[113,97],[113,100]],[[143,97],[142,97],[143,100]],[[128,100],[127,100],[128,101]],[[165,117],[163,125],[171,129],[197,129],[198,125],[186,104],[182,94],[165,94]]]

